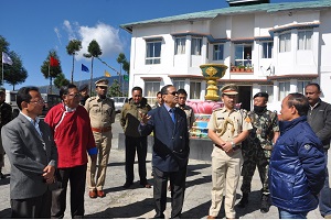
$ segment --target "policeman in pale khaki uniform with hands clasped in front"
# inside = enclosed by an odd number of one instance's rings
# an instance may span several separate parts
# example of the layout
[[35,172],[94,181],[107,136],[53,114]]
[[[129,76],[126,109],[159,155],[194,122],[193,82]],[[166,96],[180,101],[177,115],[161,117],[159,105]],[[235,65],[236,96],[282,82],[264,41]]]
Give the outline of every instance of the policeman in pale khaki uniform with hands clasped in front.
[[234,209],[236,188],[241,176],[242,142],[252,129],[250,120],[245,110],[236,110],[235,101],[238,94],[234,84],[221,88],[224,107],[213,111],[209,121],[209,138],[214,142],[212,153],[212,205],[207,219],[215,219],[225,194],[225,216],[236,218]]

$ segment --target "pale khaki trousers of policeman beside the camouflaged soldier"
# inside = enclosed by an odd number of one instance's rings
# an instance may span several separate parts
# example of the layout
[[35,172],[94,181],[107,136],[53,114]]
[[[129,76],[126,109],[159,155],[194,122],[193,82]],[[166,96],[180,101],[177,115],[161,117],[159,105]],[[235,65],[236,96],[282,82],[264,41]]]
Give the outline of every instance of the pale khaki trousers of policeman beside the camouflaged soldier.
[[210,216],[217,217],[225,190],[225,216],[236,218],[234,209],[236,189],[241,177],[242,151],[237,150],[226,154],[223,150],[214,146],[212,153],[212,205]]

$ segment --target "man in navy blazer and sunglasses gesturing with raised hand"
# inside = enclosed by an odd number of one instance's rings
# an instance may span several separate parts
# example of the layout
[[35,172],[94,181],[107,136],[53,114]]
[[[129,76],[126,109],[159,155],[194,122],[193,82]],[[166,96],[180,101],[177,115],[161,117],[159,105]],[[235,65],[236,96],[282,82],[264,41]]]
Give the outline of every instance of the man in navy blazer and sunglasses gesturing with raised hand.
[[152,152],[154,218],[164,218],[167,186],[171,186],[171,218],[180,218],[184,201],[186,167],[189,162],[189,131],[186,114],[175,108],[178,92],[172,85],[161,89],[163,106],[141,113],[139,132],[149,135],[153,132]]

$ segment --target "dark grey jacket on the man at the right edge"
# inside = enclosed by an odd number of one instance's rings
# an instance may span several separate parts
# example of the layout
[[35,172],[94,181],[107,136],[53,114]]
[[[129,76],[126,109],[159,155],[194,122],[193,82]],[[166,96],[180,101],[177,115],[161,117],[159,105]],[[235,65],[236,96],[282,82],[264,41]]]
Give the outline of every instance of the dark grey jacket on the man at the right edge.
[[311,110],[308,110],[308,123],[316,135],[323,143],[323,148],[330,148],[331,140],[331,105],[322,100]]

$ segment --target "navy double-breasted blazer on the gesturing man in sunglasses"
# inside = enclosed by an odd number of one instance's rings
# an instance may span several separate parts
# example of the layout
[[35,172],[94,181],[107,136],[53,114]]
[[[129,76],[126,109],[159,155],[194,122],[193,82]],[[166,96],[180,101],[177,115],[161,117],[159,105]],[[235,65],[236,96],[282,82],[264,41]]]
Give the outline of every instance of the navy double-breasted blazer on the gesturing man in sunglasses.
[[139,125],[139,132],[142,136],[153,132],[153,166],[162,172],[177,172],[185,168],[190,153],[185,112],[175,108],[175,123],[164,105],[149,111],[148,114],[151,118],[146,125]]

